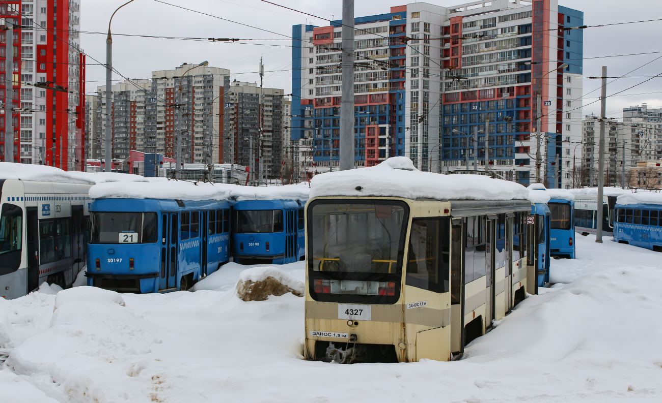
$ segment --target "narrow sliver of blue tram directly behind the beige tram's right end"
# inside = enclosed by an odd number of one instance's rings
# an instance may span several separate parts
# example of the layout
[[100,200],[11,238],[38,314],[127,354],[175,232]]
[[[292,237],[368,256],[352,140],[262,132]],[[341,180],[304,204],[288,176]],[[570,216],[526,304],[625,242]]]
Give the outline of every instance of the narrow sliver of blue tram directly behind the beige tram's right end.
[[527,282],[530,294],[538,294],[539,287],[549,287],[549,227],[551,212],[545,203],[532,203],[528,217],[527,277],[536,281]]

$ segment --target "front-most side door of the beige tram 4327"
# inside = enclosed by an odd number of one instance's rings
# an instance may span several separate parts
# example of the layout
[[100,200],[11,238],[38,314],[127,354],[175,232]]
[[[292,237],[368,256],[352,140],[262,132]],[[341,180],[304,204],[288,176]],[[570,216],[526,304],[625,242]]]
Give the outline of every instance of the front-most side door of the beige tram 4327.
[[451,352],[461,353],[464,349],[464,234],[462,220],[453,219],[451,227]]

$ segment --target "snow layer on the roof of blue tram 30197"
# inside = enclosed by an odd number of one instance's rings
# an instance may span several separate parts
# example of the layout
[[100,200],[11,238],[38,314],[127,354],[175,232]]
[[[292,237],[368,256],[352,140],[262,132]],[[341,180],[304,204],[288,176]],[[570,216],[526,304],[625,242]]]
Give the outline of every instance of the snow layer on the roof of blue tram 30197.
[[93,199],[227,200],[232,185],[167,180],[141,183],[103,183],[89,189]]

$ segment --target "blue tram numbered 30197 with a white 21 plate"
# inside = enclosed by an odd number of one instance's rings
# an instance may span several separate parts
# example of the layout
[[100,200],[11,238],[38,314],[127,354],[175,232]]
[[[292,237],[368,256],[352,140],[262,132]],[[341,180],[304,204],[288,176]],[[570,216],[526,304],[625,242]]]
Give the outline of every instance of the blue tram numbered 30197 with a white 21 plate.
[[99,199],[90,211],[88,285],[185,290],[228,262],[228,201]]

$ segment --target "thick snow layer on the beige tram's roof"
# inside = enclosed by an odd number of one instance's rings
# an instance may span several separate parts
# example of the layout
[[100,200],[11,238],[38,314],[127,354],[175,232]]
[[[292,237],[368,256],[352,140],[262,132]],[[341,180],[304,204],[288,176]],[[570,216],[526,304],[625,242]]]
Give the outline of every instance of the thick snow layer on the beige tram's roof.
[[527,200],[516,182],[483,175],[422,172],[407,157],[391,157],[369,168],[326,172],[310,180],[310,197],[384,196],[416,200]]

